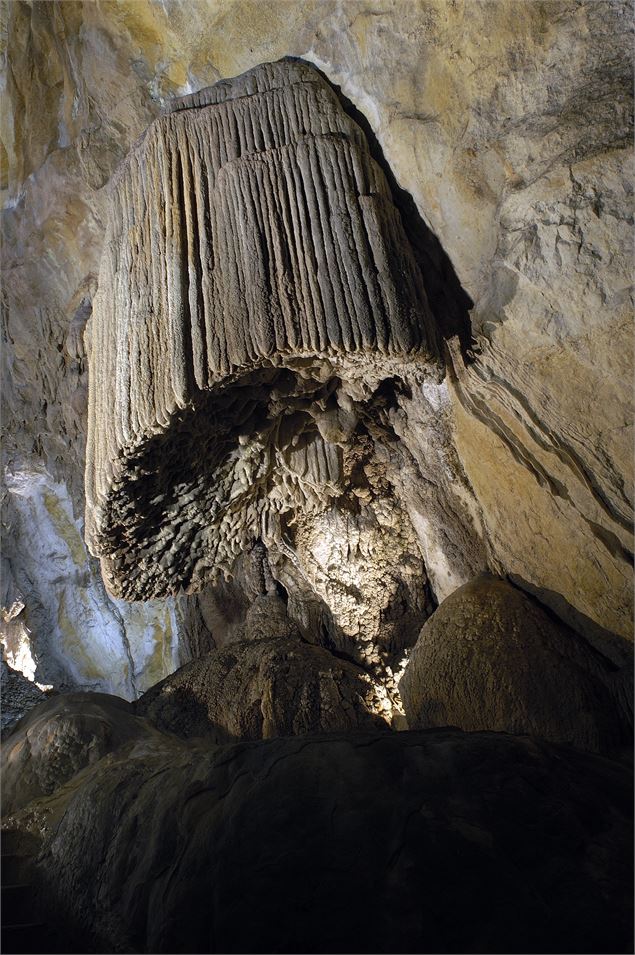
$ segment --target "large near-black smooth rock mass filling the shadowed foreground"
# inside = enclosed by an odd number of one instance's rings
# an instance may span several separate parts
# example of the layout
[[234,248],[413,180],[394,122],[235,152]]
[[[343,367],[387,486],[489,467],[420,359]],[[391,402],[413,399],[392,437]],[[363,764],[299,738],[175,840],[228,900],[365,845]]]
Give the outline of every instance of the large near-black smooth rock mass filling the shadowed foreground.
[[155,736],[6,824],[101,951],[600,953],[631,950],[631,820],[617,763],[437,730]]

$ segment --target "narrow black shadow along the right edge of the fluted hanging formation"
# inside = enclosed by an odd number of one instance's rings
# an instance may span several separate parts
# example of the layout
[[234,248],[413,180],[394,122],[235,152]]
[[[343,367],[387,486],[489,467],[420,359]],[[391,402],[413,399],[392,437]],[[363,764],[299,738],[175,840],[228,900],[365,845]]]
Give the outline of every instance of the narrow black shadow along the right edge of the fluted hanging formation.
[[[295,56],[283,57],[283,59],[306,63],[319,73],[337,96],[344,112],[363,131],[370,154],[384,173],[395,206],[401,215],[405,233],[423,275],[428,302],[441,336],[446,341],[457,336],[461,344],[463,360],[466,364],[469,364],[470,361],[474,360],[471,350],[473,344],[476,344],[472,338],[472,322],[470,320],[470,309],[474,302],[461,285],[441,243],[422,219],[416,202],[410,193],[397,182],[370,123],[364,114],[344,95],[340,87],[333,83],[315,64]],[[441,357],[444,358],[445,356],[442,355]]]

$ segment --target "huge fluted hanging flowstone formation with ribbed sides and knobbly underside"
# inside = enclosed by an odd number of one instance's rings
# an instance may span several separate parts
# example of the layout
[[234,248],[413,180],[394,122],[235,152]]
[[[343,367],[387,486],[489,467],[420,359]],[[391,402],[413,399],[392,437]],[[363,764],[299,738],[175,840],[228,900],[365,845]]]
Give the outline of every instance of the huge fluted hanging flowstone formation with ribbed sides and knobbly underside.
[[149,127],[88,337],[86,534],[114,594],[194,590],[340,492],[351,395],[438,348],[383,173],[316,70],[257,67]]

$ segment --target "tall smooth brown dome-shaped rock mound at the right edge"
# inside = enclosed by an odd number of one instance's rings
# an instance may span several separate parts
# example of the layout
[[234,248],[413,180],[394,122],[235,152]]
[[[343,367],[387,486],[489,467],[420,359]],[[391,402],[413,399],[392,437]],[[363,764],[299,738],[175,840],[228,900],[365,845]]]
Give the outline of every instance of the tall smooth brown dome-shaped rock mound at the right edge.
[[489,575],[460,587],[425,623],[399,691],[411,729],[528,733],[605,753],[632,746],[631,668],[619,670]]

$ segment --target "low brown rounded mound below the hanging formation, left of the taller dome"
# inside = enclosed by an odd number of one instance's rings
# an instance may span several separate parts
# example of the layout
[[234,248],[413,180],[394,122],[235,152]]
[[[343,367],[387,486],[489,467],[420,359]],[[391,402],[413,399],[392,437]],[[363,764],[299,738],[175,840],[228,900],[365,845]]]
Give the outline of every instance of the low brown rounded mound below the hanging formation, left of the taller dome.
[[391,709],[363,670],[299,636],[215,650],[135,704],[159,729],[217,742],[387,729]]

